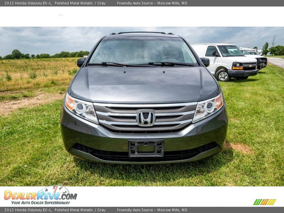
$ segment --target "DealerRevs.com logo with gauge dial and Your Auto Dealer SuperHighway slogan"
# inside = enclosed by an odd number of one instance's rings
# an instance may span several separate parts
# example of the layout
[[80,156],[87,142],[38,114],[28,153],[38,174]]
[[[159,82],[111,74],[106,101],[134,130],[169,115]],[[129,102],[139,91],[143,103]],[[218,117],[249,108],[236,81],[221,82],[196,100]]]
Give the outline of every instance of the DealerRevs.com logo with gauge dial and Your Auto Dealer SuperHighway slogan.
[[70,204],[70,200],[76,200],[77,194],[69,193],[64,186],[53,185],[43,188],[38,192],[12,192],[4,191],[4,199],[12,204]]

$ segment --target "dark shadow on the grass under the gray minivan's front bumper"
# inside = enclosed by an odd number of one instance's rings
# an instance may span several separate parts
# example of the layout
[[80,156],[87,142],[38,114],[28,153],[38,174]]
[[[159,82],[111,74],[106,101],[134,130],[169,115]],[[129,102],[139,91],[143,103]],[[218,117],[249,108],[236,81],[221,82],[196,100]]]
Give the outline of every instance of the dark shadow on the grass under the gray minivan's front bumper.
[[[125,181],[128,185],[159,184],[205,176],[219,170],[234,159],[233,151],[225,149],[217,155],[196,162],[176,164],[104,164],[84,161],[74,157],[76,166],[84,172],[90,172],[104,179]],[[132,183],[132,184],[131,184]]]

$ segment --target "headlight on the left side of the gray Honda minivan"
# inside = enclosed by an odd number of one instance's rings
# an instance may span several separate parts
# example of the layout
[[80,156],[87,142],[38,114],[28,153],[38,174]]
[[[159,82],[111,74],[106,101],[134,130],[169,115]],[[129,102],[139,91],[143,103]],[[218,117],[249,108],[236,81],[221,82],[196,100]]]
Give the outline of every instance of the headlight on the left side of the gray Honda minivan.
[[93,103],[87,101],[81,101],[79,99],[72,98],[70,95],[66,94],[65,106],[74,114],[81,118],[89,120],[93,123],[98,124],[98,118],[96,116]]

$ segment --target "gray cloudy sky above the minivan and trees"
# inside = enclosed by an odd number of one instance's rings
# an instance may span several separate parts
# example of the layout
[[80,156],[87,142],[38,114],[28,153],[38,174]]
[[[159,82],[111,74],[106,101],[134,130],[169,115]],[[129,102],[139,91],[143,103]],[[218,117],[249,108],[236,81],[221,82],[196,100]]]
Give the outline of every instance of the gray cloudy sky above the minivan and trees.
[[110,33],[127,31],[156,31],[174,33],[189,43],[232,43],[238,47],[271,43],[284,46],[284,27],[0,27],[0,56],[18,49],[24,54],[61,51],[90,51],[96,42]]

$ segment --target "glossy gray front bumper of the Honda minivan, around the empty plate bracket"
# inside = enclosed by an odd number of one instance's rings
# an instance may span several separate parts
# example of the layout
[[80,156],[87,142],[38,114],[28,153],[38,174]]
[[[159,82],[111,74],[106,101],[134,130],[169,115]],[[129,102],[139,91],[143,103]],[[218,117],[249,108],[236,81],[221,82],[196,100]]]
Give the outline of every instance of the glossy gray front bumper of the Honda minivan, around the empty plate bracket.
[[[196,161],[220,152],[224,146],[228,118],[225,104],[216,114],[191,124],[177,133],[120,134],[61,109],[61,133],[65,149],[72,155],[93,162],[155,164]],[[164,156],[129,157],[128,140],[164,140]],[[114,155],[118,157],[113,157]],[[111,156],[111,157],[110,157]]]

